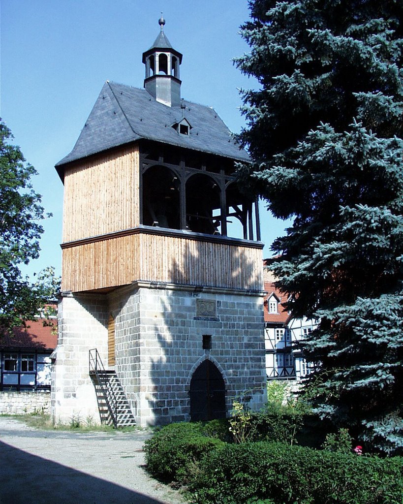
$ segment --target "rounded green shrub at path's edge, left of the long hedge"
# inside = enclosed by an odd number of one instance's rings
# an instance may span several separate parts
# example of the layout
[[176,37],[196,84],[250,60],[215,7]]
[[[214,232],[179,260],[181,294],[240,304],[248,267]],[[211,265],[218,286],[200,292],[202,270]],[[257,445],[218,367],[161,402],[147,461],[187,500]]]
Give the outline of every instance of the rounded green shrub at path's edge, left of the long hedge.
[[157,479],[186,484],[197,473],[200,460],[221,446],[217,438],[203,434],[201,423],[172,423],[145,443],[147,470]]

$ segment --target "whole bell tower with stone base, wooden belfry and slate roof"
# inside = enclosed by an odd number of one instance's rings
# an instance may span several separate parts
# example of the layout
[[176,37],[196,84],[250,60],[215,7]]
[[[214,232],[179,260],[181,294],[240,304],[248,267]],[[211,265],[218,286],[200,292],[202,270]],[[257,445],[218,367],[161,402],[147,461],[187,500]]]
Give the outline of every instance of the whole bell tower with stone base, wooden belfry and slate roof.
[[249,156],[213,108],[181,98],[182,54],[159,24],[145,89],[106,81],[56,164],[56,421],[103,418],[89,351],[143,426],[225,417],[245,395],[265,402],[263,243],[257,202],[235,178]]

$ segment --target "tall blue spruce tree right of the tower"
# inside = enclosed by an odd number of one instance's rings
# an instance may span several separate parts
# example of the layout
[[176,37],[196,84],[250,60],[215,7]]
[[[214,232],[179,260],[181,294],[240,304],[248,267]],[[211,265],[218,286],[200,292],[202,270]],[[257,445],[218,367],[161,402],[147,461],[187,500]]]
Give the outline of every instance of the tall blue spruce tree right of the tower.
[[403,448],[403,2],[254,0],[235,63],[243,90],[238,174],[282,219],[272,245],[322,418],[370,449]]

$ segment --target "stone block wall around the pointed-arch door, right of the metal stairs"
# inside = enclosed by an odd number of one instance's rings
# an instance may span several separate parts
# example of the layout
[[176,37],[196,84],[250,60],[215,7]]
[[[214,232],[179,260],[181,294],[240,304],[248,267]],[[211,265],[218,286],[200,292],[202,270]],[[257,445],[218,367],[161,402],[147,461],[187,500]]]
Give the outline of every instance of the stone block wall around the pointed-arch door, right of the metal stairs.
[[[190,419],[190,380],[211,360],[221,372],[226,407],[244,394],[259,409],[266,401],[262,297],[224,289],[150,285],[111,303],[115,370],[137,421]],[[203,335],[211,349],[203,349]]]

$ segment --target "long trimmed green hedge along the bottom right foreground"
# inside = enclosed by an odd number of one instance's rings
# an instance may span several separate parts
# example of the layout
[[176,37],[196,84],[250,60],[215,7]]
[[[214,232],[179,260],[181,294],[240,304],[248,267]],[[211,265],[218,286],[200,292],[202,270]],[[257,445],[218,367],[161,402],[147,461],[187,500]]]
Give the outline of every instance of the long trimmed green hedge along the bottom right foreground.
[[189,489],[203,504],[401,504],[401,471],[398,457],[225,444],[204,458]]

